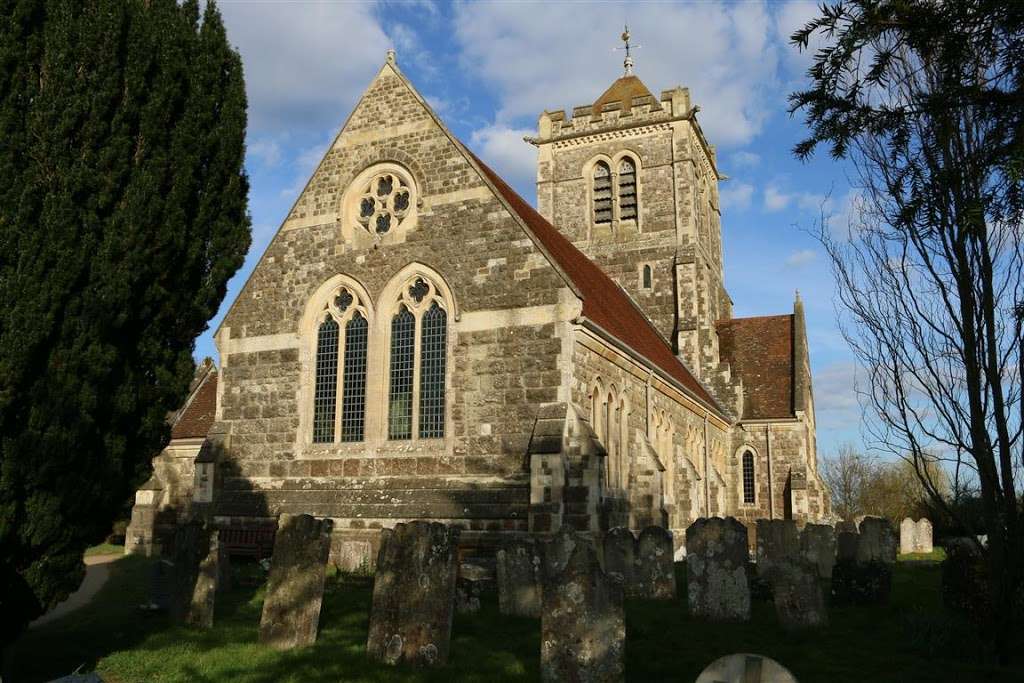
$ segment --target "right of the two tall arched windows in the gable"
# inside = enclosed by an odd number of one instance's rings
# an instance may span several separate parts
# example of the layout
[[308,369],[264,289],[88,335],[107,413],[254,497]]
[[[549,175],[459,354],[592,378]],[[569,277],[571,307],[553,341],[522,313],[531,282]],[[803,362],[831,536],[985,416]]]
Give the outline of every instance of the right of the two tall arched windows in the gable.
[[385,288],[380,310],[387,356],[385,437],[443,438],[455,318],[451,290],[436,273],[407,267]]

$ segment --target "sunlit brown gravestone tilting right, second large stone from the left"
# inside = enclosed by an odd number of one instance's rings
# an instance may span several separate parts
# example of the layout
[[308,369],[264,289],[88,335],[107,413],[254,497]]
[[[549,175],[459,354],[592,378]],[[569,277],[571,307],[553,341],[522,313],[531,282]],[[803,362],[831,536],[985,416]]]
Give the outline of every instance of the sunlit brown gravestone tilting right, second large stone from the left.
[[285,650],[316,642],[333,527],[330,519],[281,515],[259,623],[264,645]]

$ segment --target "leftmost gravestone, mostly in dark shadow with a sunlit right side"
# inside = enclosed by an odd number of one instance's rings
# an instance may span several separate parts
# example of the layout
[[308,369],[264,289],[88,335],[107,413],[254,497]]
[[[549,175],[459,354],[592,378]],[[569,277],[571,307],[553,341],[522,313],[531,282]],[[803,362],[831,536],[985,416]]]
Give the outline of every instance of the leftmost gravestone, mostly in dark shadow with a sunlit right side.
[[180,524],[174,530],[171,617],[202,628],[213,626],[220,544],[217,532],[202,521]]

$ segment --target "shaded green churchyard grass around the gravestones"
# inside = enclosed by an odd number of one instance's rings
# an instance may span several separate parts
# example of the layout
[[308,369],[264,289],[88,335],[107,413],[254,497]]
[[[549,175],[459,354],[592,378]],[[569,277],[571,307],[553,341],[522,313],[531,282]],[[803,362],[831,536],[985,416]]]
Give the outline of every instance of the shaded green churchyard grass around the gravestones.
[[[111,683],[163,681],[537,681],[540,624],[503,616],[497,596],[474,615],[456,615],[447,667],[391,668],[366,656],[373,580],[329,574],[315,645],[278,652],[258,643],[260,586],[237,585],[218,598],[210,631],[172,627],[146,615],[150,560],[126,557],[92,603],[33,630],[7,652],[3,680],[47,681],[81,667]],[[255,569],[250,565],[250,574]],[[244,571],[237,566],[236,571]],[[713,625],[686,613],[685,570],[679,598],[627,603],[627,664],[632,681],[692,681],[714,658],[737,651],[772,656],[814,681],[1024,680],[1024,669],[975,664],[977,640],[940,607],[938,565],[899,563],[887,607],[830,610],[820,632],[779,631],[769,602],[754,603],[749,624]]]

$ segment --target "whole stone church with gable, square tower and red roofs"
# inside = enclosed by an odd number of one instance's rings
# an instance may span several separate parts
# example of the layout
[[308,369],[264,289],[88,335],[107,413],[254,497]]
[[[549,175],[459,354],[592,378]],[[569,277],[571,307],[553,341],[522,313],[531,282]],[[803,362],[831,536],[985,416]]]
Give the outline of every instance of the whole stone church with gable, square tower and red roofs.
[[697,112],[627,58],[541,115],[535,209],[389,52],[216,331],[129,545],[202,515],[258,553],[310,513],[355,565],[417,518],[485,550],[826,516],[803,307],[732,316]]

